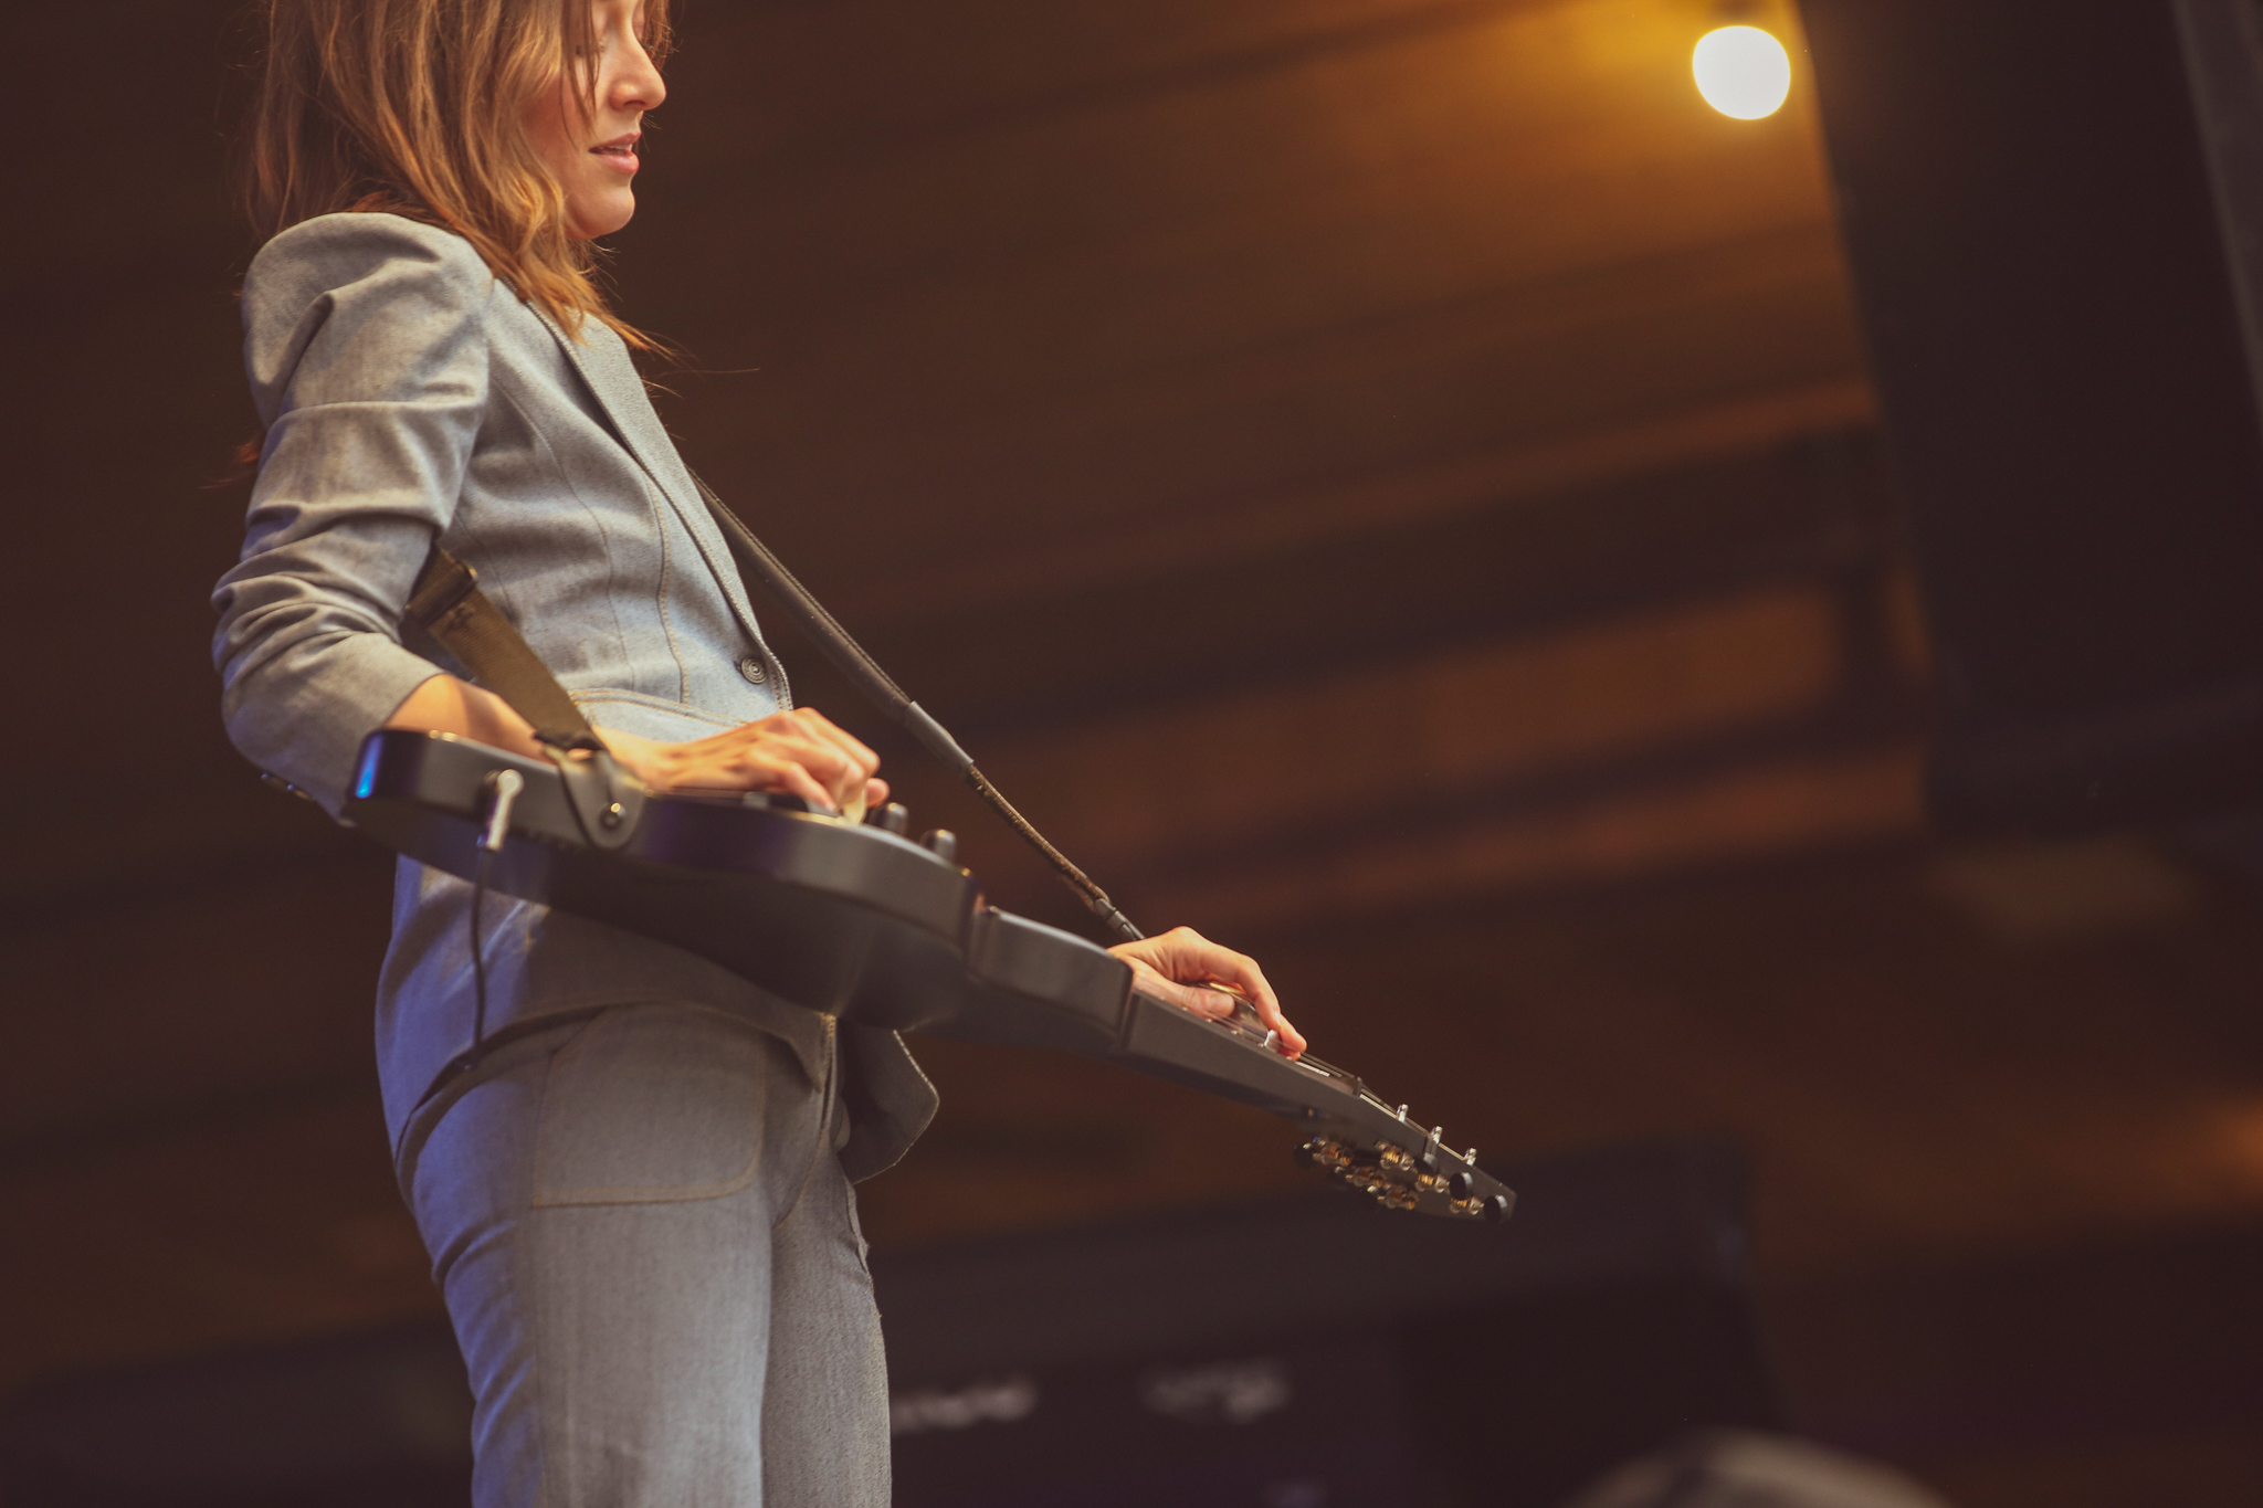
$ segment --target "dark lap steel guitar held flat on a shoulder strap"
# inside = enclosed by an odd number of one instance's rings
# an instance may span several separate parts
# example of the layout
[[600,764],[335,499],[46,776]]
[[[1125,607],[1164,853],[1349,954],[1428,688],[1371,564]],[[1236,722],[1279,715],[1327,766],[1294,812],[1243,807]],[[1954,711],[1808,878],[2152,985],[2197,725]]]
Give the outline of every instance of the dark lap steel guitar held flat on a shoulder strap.
[[[586,807],[586,800],[584,800]],[[1500,1221],[1514,1194],[1358,1076],[1274,1051],[1247,1008],[1213,1022],[1132,988],[1132,968],[984,904],[948,832],[905,837],[792,796],[649,796],[586,834],[557,766],[446,733],[380,730],[344,818],[464,879],[674,943],[765,990],[896,1031],[1120,1063],[1306,1130],[1303,1162],[1385,1205]]]

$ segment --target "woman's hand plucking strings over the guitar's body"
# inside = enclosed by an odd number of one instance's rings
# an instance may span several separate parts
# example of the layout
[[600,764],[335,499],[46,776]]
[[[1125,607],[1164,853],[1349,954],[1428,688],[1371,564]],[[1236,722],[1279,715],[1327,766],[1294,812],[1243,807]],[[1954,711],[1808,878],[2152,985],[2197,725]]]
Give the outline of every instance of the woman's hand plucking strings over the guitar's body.
[[815,708],[772,712],[688,744],[618,728],[597,728],[597,737],[654,791],[783,791],[819,812],[887,800],[887,782],[874,780],[880,755]]

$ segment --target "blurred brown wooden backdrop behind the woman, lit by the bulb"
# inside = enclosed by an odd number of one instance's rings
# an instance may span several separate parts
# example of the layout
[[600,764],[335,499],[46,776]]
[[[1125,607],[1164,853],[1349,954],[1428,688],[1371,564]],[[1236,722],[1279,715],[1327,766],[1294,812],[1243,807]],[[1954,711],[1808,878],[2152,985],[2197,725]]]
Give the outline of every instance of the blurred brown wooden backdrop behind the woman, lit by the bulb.
[[[437,1311],[369,1063],[387,861],[258,789],[206,660],[238,14],[14,23],[0,1386]],[[2256,1501],[2252,902],[2150,837],[1926,834],[1813,99],[1711,113],[1709,25],[692,0],[620,305],[690,357],[688,459],[1145,925],[1258,952],[1489,1155],[1743,1142],[1813,1433],[1969,1508]],[[883,1250],[1299,1178],[1168,1087],[921,1058]]]

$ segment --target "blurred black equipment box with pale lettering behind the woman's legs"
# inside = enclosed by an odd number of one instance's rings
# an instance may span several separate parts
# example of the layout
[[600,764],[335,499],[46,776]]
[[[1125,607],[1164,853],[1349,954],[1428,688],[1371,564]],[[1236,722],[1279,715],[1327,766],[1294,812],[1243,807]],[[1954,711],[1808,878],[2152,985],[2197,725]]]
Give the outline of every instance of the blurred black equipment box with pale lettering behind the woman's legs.
[[1781,1427],[1733,1149],[1516,1173],[1507,1225],[1349,1196],[878,1253],[898,1508],[1555,1508]]

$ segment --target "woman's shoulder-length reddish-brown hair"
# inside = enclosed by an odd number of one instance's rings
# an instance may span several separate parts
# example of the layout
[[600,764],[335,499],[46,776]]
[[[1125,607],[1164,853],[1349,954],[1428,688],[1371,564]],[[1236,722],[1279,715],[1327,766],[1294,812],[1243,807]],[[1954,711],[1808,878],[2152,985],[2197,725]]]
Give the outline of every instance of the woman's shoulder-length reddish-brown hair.
[[[591,280],[595,251],[527,136],[561,77],[595,111],[591,0],[260,0],[242,194],[260,240],[333,210],[389,210],[468,240],[566,330],[629,328]],[[645,50],[668,54],[668,0],[645,0]]]

